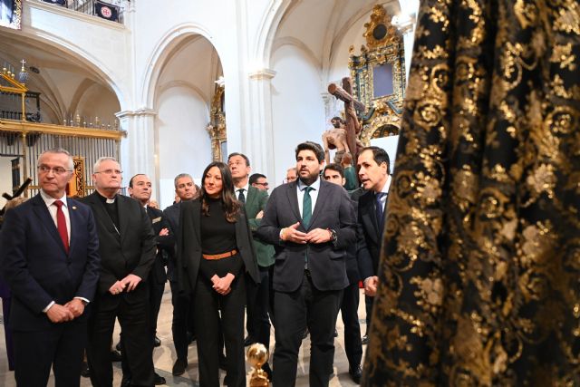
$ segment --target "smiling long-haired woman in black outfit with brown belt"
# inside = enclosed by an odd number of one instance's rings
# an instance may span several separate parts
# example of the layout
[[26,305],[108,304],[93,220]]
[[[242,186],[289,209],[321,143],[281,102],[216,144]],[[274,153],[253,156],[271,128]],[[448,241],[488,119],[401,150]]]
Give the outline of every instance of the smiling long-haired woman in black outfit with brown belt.
[[179,265],[184,274],[179,276],[179,285],[193,295],[199,384],[219,385],[219,335],[223,333],[226,383],[246,386],[246,280],[257,282],[259,276],[244,206],[234,196],[226,164],[216,161],[208,165],[199,198],[181,205],[179,225]]

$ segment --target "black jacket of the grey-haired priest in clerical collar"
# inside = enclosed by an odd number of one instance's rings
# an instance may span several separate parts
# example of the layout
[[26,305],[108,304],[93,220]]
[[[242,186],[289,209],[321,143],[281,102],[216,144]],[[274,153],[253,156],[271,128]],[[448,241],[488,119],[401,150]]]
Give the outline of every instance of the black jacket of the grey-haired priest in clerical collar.
[[146,281],[155,260],[156,246],[150,218],[137,200],[117,195],[118,234],[98,195],[95,191],[82,201],[92,208],[97,223],[101,255],[98,292],[105,294],[115,282],[130,274]]

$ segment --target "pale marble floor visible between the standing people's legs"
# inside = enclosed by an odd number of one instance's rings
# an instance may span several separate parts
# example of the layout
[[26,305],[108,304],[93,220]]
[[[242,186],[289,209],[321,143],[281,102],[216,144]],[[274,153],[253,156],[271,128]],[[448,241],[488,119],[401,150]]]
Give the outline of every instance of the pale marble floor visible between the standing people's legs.
[[[362,292],[362,291],[361,291]],[[173,376],[171,374],[171,368],[175,362],[175,349],[173,348],[172,338],[171,338],[171,294],[169,290],[169,284],[166,286],[165,294],[163,295],[163,301],[161,304],[160,316],[158,320],[158,337],[161,340],[161,346],[155,348],[153,352],[153,363],[155,364],[156,372],[160,373],[161,376],[165,377],[167,380],[167,386],[198,386],[198,354],[196,343],[193,342],[189,345],[189,366],[186,371],[181,376]],[[1,311],[1,308],[0,308]],[[361,331],[364,334],[366,325],[364,321],[364,296],[361,293],[361,304],[359,305],[359,316],[361,317]],[[334,355],[334,373],[330,382],[331,386],[355,386],[356,384],[351,380],[348,374],[348,361],[346,359],[346,354],[344,353],[344,340],[343,340],[343,322],[339,315],[338,322],[336,324],[336,329],[338,330],[338,337],[335,340],[335,355]],[[118,342],[119,337],[119,326],[115,329],[114,341]],[[274,331],[272,331],[272,347],[274,347]],[[363,345],[363,351],[366,349]],[[300,349],[300,354],[298,356],[298,374],[296,379],[296,386],[307,386],[308,385],[308,364],[310,362],[310,340],[309,338],[304,339],[302,347]],[[247,366],[247,372],[249,372],[249,366]],[[113,374],[114,380],[113,385],[119,386],[121,384],[121,363],[113,363]],[[225,376],[225,372],[222,372],[221,377]],[[249,380],[249,379],[248,379]],[[16,383],[14,382],[14,372],[8,371],[8,361],[6,359],[5,352],[5,336],[4,336],[4,324],[0,324],[0,386],[14,387]],[[51,382],[49,385],[53,385],[53,379],[51,375]],[[82,387],[91,386],[91,381],[89,379],[82,378]]]

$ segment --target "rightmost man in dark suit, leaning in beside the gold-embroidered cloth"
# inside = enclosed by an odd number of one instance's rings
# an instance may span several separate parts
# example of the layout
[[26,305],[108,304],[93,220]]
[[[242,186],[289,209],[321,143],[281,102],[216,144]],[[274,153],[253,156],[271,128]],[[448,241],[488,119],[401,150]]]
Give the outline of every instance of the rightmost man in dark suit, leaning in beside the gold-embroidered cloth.
[[[387,195],[391,186],[389,164],[389,155],[379,147],[362,149],[357,161],[359,179],[362,188],[366,189],[366,192],[359,198],[358,223],[364,237],[359,245],[357,258],[364,283],[367,333],[371,323],[372,300],[379,282],[377,270],[381,258],[382,229]],[[362,343],[368,343],[367,334],[364,334]]]

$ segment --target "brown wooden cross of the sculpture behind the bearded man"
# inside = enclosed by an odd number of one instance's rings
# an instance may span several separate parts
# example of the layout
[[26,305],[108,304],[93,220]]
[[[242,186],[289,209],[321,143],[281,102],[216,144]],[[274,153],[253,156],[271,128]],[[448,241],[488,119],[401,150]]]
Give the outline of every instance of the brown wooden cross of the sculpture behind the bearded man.
[[353,82],[350,77],[343,78],[343,87],[336,83],[328,85],[328,92],[334,97],[344,102],[344,115],[346,117],[346,142],[356,164],[358,157],[357,138],[361,132],[361,123],[356,117],[356,111],[364,111],[362,102],[356,101],[353,97]]

